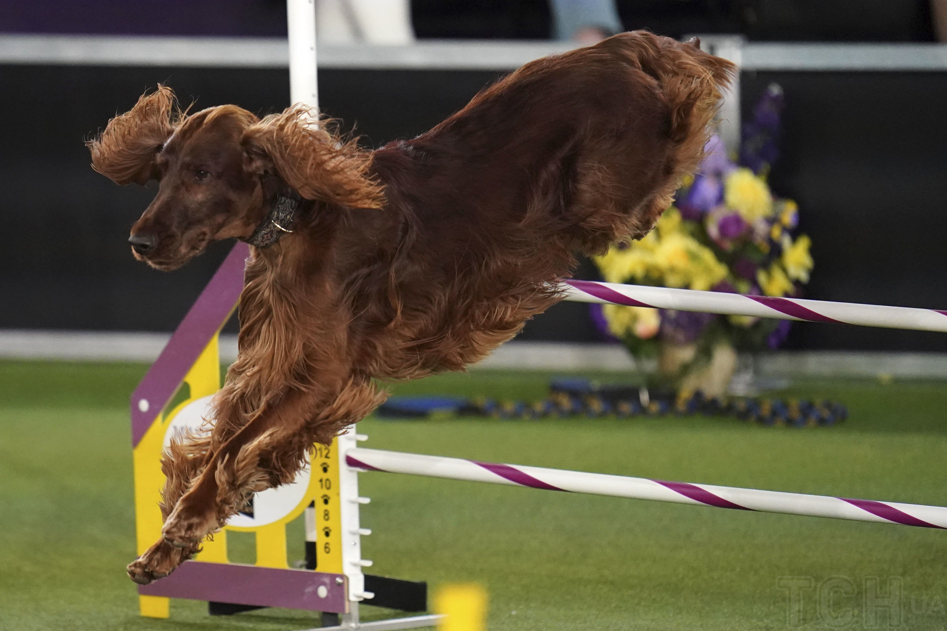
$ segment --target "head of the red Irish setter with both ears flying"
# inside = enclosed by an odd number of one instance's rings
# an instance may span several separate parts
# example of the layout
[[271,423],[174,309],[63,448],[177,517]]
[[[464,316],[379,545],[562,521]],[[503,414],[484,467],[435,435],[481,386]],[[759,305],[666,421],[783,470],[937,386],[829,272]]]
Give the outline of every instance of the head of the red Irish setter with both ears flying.
[[307,200],[381,207],[371,154],[329,124],[303,107],[262,120],[234,105],[188,115],[158,86],[88,146],[92,167],[116,184],[159,181],[129,243],[135,258],[173,270],[212,241],[250,237],[287,189]]

